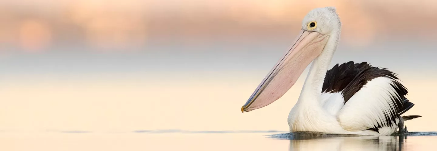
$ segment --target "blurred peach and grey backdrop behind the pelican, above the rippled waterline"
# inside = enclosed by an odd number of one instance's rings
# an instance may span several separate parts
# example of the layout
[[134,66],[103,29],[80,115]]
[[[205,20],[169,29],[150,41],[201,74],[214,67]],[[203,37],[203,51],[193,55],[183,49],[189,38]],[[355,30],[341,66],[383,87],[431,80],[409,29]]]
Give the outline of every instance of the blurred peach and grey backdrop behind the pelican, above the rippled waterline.
[[240,108],[316,7],[343,23],[331,66],[389,67],[435,131],[437,1],[1,0],[0,131],[288,131],[305,71]]

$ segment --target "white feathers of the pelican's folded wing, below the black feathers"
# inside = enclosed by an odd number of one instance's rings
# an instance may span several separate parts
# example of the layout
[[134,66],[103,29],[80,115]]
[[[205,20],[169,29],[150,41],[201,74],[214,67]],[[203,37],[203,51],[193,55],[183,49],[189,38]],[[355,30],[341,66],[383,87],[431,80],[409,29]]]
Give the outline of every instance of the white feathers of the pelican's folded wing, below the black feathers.
[[388,77],[377,77],[368,81],[360,91],[355,93],[343,108],[338,116],[340,124],[347,131],[360,131],[381,125],[391,127],[391,133],[397,129],[397,123],[387,123],[385,115],[392,113],[395,104],[392,96],[397,96],[392,87],[393,80]]

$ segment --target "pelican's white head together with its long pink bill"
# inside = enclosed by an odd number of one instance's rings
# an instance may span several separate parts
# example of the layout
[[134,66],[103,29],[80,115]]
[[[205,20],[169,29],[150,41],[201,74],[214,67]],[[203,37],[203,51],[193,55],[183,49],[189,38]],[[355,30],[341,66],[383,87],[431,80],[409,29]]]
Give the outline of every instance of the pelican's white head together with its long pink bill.
[[241,107],[241,111],[265,107],[282,97],[312,60],[321,55],[332,55],[340,37],[340,28],[340,18],[334,7],[311,10],[304,17],[302,30],[295,42]]

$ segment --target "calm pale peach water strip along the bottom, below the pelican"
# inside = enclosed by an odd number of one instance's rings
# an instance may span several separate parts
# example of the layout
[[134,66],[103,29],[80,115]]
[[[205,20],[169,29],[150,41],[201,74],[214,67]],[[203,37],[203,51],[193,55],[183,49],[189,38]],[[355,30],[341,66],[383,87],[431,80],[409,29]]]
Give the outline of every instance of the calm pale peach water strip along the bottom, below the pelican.
[[[401,136],[402,135],[402,136]],[[395,136],[262,131],[85,131],[0,135],[2,151],[422,151],[434,148],[437,132]]]

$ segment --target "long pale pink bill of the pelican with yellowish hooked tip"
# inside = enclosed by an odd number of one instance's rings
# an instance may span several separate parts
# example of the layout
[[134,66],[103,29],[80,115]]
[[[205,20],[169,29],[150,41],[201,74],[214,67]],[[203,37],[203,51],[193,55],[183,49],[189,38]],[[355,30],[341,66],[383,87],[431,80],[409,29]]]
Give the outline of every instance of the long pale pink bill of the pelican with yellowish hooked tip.
[[308,64],[322,53],[328,38],[328,35],[318,32],[301,30],[297,40],[267,74],[241,107],[241,111],[248,112],[265,107],[282,97],[295,84]]

